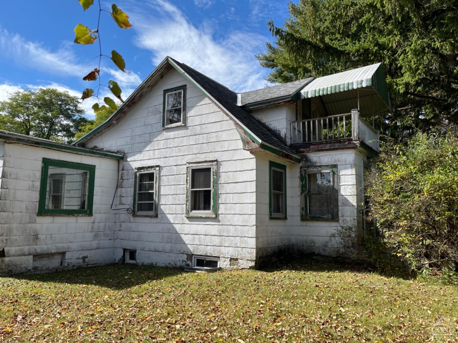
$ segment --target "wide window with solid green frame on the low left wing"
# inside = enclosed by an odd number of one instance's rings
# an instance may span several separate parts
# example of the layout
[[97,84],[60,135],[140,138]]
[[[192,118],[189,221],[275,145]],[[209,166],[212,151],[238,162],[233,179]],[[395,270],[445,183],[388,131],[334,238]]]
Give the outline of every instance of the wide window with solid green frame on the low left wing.
[[38,215],[92,215],[95,166],[44,158]]

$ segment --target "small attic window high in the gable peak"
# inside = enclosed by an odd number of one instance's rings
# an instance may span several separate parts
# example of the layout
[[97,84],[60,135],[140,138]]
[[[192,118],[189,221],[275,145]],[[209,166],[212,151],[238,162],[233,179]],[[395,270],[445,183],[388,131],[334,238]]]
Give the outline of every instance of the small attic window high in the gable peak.
[[186,85],[164,90],[162,128],[186,123]]

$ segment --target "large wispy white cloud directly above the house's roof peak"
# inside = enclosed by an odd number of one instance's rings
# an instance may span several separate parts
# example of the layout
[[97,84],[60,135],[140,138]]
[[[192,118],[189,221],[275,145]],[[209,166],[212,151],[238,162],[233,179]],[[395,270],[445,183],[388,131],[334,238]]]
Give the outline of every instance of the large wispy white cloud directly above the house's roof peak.
[[160,17],[148,17],[132,6],[129,15],[138,33],[135,43],[152,51],[153,64],[165,56],[177,59],[217,80],[234,91],[262,88],[265,70],[255,54],[264,48],[265,37],[242,31],[227,32],[223,39],[215,39],[208,27],[195,27],[181,11],[164,0],[144,3]]

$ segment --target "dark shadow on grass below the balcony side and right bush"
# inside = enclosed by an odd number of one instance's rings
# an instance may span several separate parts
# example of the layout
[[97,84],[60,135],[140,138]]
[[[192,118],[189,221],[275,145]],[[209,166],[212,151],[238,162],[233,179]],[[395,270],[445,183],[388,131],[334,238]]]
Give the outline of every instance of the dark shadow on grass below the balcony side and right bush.
[[306,254],[285,258],[272,266],[260,268],[264,272],[276,272],[294,270],[301,272],[351,272],[351,273],[377,273],[385,277],[394,277],[404,280],[414,279],[415,274],[407,272],[403,268],[394,270],[377,270],[370,263],[360,260],[352,260],[345,257],[327,257],[315,254]]

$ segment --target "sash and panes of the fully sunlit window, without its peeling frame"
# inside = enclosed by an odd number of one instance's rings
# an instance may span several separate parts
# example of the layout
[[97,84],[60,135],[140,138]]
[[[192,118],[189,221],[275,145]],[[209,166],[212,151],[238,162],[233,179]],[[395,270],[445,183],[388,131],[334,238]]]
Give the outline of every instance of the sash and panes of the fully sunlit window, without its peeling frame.
[[212,209],[212,168],[191,169],[191,211]]

